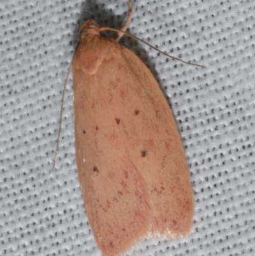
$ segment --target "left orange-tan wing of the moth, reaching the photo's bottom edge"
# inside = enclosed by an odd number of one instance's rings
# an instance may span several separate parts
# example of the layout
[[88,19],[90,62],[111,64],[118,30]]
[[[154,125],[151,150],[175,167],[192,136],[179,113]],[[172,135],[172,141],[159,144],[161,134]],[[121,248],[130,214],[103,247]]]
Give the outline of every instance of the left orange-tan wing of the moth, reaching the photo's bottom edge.
[[[94,72],[79,66],[76,56],[73,60],[75,147],[78,177],[94,237],[103,255],[113,256],[147,234],[151,215],[147,186],[129,156],[112,106],[101,90],[112,75],[102,71],[102,77],[98,77],[98,70],[104,69],[112,49],[101,45],[101,40],[95,39],[96,43],[96,49],[102,51],[98,54],[101,61],[87,44],[78,51],[84,54],[80,59],[96,62],[91,63],[98,66]],[[116,59],[115,64],[119,61]]]

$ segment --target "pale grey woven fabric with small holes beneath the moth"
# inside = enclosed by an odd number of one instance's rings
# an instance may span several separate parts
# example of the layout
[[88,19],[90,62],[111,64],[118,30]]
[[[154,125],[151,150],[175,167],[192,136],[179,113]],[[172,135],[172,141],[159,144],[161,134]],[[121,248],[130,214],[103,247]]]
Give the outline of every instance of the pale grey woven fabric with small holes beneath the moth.
[[[147,239],[128,255],[255,255],[255,2],[140,0],[128,31],[171,105],[186,149],[194,224],[182,239]],[[75,163],[72,77],[52,172],[64,79],[83,20],[120,27],[127,1],[2,0],[0,255],[101,255]]]

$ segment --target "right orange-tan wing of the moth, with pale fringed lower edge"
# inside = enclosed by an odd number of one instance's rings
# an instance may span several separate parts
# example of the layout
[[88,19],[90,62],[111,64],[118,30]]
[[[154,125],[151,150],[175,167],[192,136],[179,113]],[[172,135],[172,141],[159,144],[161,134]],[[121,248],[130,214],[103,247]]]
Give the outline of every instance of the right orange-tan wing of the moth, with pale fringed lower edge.
[[149,190],[153,216],[149,235],[187,235],[193,220],[193,192],[175,119],[145,64],[130,50],[115,48],[117,64],[113,56],[108,57],[97,76],[103,79],[110,74],[101,90]]

